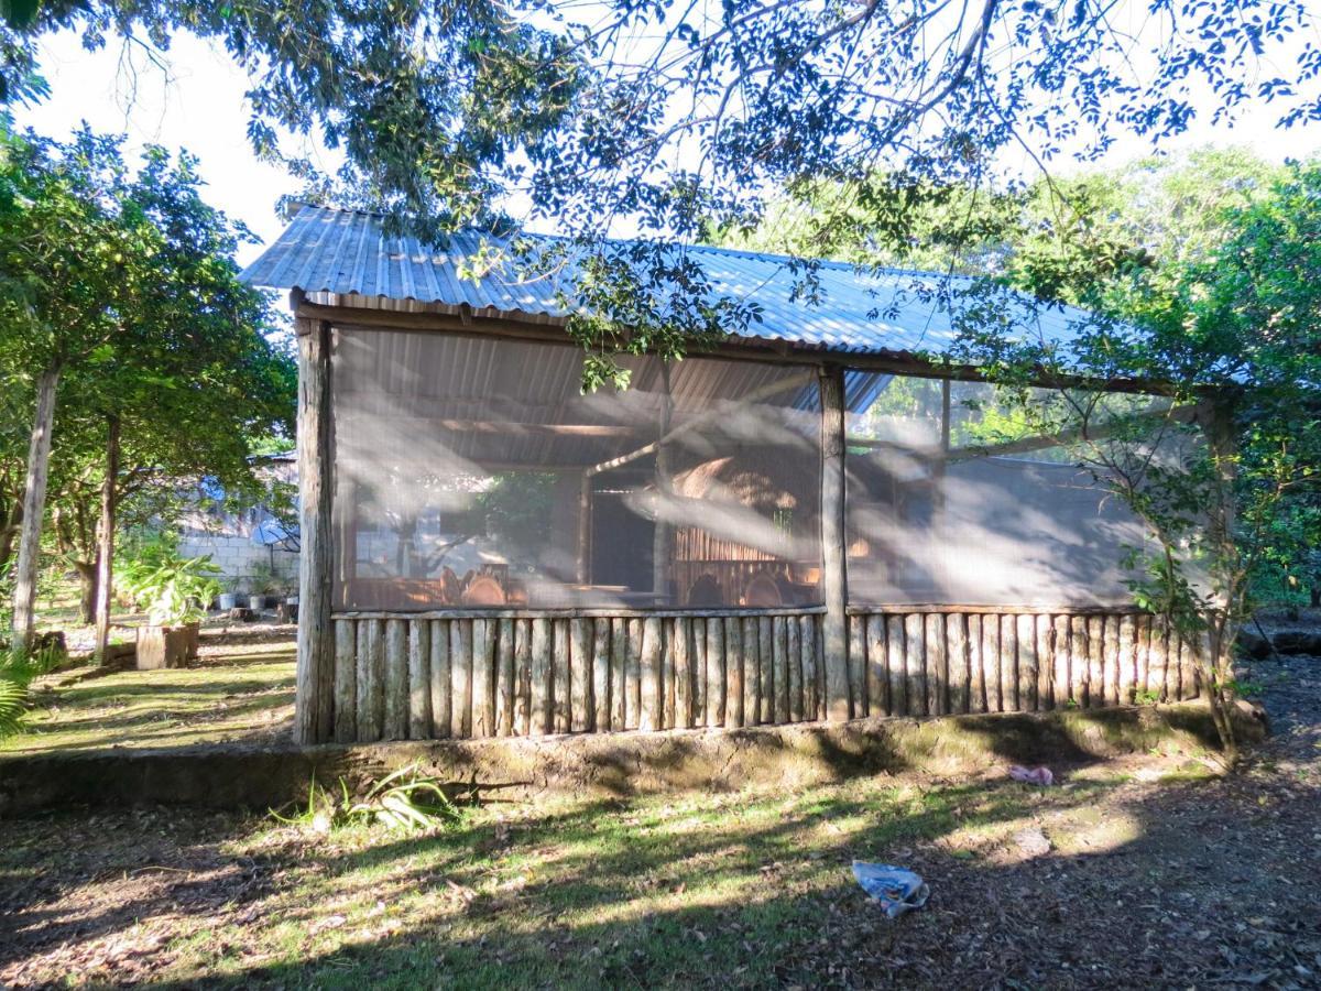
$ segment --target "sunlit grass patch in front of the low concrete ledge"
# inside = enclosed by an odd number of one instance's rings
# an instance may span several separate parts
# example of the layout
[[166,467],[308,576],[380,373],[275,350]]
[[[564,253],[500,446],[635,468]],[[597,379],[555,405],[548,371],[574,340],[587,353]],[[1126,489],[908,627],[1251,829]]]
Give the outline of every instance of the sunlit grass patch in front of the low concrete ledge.
[[[485,807],[413,836],[248,822],[219,843],[222,859],[269,871],[268,885],[210,916],[169,913],[153,943],[168,962],[151,976],[318,988],[687,986],[713,973],[737,987],[812,983],[823,917],[882,925],[851,859],[937,873],[995,863],[1024,822],[1108,788],[873,778]],[[15,859],[0,855],[11,879],[24,869]],[[148,905],[125,910],[143,920],[140,937],[160,925]]]

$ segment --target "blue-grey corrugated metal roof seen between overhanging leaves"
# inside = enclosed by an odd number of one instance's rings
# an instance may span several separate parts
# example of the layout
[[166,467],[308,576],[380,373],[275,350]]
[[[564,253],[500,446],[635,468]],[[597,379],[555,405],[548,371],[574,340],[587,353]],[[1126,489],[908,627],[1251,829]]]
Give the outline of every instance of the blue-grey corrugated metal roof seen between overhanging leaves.
[[[460,271],[476,267],[470,259],[482,244],[481,235],[458,233],[445,248],[428,248],[416,238],[386,237],[374,214],[304,206],[243,271],[243,279],[306,293],[466,305],[482,316],[567,316],[550,276],[519,280],[509,270],[497,270],[480,279],[461,277]],[[808,301],[801,296],[802,276],[786,256],[701,246],[683,250],[701,263],[720,296],[762,308],[764,320],[749,334],[757,340],[893,354],[939,353],[955,337],[948,312],[931,292],[946,277],[939,274],[863,272],[820,262],[819,291]],[[1083,316],[1070,308],[1025,305],[1020,324],[1033,340],[1059,342],[1074,336],[1073,325]]]

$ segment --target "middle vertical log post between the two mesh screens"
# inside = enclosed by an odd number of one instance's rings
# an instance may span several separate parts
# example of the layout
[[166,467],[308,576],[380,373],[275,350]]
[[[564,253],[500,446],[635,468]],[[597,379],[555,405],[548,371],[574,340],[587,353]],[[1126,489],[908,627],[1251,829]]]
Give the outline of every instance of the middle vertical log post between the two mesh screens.
[[844,369],[820,374],[822,396],[822,576],[826,614],[822,617],[822,663],[826,669],[826,717],[849,719],[848,576],[844,562]]

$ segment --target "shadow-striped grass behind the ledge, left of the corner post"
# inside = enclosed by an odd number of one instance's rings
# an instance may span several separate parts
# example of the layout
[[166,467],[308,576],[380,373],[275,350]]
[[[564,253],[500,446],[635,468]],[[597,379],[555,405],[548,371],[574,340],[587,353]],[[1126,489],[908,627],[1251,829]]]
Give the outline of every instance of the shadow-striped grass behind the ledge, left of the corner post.
[[197,667],[50,675],[34,683],[25,729],[0,753],[271,739],[292,717],[293,658],[292,643],[243,645]]

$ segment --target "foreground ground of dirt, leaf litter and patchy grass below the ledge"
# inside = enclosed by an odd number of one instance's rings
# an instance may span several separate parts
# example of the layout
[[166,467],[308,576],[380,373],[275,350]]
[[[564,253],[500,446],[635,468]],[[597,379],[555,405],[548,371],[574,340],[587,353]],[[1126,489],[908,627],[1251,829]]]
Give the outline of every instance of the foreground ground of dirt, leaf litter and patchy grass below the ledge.
[[[310,836],[149,809],[0,825],[0,984],[1321,987],[1321,658],[1250,682],[1273,737],[1033,789],[489,807],[457,832]],[[886,920],[853,858],[927,906]]]

